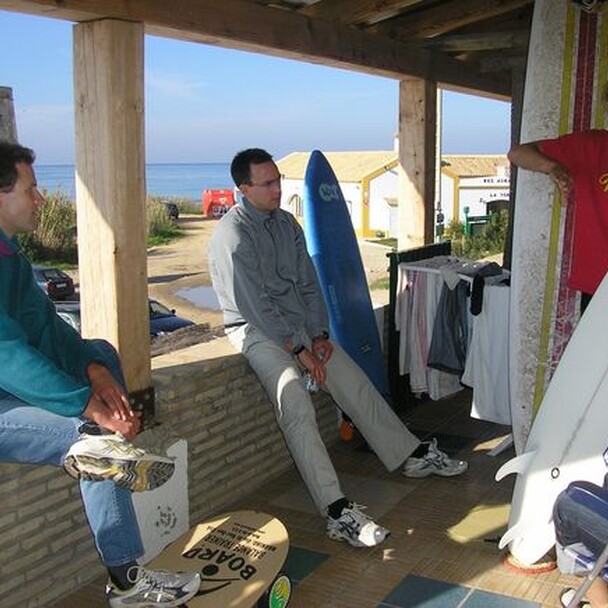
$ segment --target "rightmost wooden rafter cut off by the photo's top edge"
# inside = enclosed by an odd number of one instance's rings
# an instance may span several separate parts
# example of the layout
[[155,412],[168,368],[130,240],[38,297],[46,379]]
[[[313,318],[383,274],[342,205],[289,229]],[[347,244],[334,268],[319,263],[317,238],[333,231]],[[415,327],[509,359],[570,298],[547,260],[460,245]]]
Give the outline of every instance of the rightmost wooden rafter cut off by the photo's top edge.
[[448,0],[415,15],[395,17],[370,31],[404,41],[432,38],[532,3],[533,0]]

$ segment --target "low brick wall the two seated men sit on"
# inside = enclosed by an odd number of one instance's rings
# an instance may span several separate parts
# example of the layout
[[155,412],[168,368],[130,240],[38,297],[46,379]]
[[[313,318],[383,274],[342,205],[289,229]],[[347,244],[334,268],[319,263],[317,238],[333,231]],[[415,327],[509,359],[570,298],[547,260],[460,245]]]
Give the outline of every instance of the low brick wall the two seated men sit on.
[[[293,466],[272,408],[225,338],[153,359],[155,436],[188,441],[190,520],[221,511]],[[338,438],[331,399],[314,397]],[[150,438],[152,435],[152,438]],[[50,466],[0,463],[0,606],[49,606],[103,573],[78,484]]]

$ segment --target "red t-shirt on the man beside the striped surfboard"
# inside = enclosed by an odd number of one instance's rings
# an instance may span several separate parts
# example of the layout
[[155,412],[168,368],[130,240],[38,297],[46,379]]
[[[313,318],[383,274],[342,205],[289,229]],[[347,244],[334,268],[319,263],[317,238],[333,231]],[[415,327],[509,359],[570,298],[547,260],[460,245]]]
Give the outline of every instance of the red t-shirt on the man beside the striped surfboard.
[[563,135],[540,143],[574,181],[572,267],[568,286],[594,293],[608,271],[608,131]]

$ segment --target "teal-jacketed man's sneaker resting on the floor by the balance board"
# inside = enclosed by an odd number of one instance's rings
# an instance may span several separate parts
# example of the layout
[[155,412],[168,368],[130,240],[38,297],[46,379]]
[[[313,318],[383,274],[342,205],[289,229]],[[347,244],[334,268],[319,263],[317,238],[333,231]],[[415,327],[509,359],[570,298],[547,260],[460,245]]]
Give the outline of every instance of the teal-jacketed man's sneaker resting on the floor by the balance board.
[[198,572],[173,573],[134,566],[128,576],[133,577],[134,585],[124,591],[108,582],[106,599],[110,608],[181,606],[196,595],[201,584]]

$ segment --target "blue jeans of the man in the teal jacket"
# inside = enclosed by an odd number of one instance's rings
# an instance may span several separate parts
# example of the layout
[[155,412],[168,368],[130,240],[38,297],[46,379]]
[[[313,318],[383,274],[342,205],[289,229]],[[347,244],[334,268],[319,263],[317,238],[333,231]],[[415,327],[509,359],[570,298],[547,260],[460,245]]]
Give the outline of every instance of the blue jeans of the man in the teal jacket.
[[[105,340],[93,340],[104,365],[125,386],[118,354]],[[0,461],[61,466],[80,436],[81,418],[67,418],[16,397],[0,399]],[[105,566],[121,566],[144,553],[131,492],[113,481],[81,481],[80,494]]]

